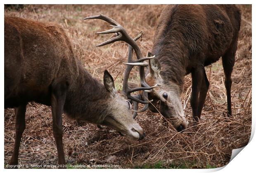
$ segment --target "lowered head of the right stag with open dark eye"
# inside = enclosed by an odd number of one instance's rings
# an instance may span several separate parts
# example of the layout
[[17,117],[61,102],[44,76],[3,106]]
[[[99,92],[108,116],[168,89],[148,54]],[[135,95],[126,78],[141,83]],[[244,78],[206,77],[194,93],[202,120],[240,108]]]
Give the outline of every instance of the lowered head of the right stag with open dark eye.
[[[148,56],[152,56],[151,53]],[[161,76],[161,65],[156,58],[149,60],[149,73],[146,81],[149,85],[159,84],[149,91],[149,99],[153,99],[149,104],[152,112],[160,112],[168,119],[177,131],[187,128],[188,122],[185,119],[181,104],[181,89],[177,82],[166,80]]]

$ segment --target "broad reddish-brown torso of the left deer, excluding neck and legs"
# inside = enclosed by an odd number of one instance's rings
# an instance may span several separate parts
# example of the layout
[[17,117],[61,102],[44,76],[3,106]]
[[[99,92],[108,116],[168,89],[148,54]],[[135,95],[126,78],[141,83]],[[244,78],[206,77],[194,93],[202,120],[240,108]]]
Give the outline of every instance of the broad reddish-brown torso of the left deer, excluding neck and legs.
[[5,107],[27,101],[47,104],[51,85],[70,82],[76,63],[60,26],[5,17]]

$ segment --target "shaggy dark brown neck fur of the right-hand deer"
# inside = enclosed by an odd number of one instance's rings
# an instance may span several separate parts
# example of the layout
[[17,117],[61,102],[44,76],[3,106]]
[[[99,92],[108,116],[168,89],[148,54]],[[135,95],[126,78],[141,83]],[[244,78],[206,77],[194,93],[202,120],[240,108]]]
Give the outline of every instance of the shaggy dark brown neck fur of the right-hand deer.
[[[197,14],[200,7],[184,8],[173,5],[164,9],[156,26],[152,52],[161,64],[160,74],[164,82],[175,82],[179,87],[183,86],[183,78],[193,66],[189,62],[201,52],[206,40],[201,31],[204,17]],[[198,20],[194,20],[194,16]]]

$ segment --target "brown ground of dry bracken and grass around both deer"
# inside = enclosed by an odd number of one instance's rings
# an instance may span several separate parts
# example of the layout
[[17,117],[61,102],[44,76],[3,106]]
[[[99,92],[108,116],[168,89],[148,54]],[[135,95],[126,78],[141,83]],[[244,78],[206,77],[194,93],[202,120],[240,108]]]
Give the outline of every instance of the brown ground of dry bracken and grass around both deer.
[[[150,167],[209,168],[228,164],[232,149],[247,145],[251,135],[251,5],[238,5],[242,11],[236,62],[232,73],[232,118],[226,118],[226,91],[221,60],[206,67],[210,88],[205,101],[201,123],[192,127],[189,103],[191,78],[185,77],[183,92],[185,115],[190,121],[184,133],[177,133],[164,118],[152,112],[140,113],[136,120],[145,130],[144,140],[134,142],[109,128],[98,129],[93,124],[77,124],[63,116],[63,141],[69,164],[116,164],[120,168]],[[152,48],[154,26],[164,5],[29,5],[18,11],[5,9],[6,15],[21,16],[38,21],[52,21],[64,27],[78,57],[90,73],[102,80],[105,69],[121,89],[127,45],[117,42],[95,47],[109,36],[95,35],[109,29],[100,20],[83,21],[90,15],[105,14],[121,23],[133,37],[144,31],[138,41],[145,55]],[[138,71],[131,80],[138,81]],[[21,140],[20,164],[57,164],[57,150],[52,135],[50,107],[29,103],[26,130]],[[14,144],[14,110],[5,110],[5,164],[8,164]],[[208,166],[207,166],[208,165]]]

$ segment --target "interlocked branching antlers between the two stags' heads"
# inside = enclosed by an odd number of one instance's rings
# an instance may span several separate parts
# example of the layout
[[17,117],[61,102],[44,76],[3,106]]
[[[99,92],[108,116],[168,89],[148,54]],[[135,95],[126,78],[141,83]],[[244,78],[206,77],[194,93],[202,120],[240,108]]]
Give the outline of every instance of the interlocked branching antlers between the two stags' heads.
[[[148,63],[145,62],[145,60],[149,60],[151,58],[154,58],[154,56],[143,58],[142,53],[140,51],[140,48],[138,47],[137,43],[135,42],[136,40],[138,40],[142,36],[143,31],[140,32],[140,34],[137,35],[137,37],[135,37],[133,39],[128,35],[126,30],[119,23],[117,23],[113,19],[109,18],[108,16],[104,16],[103,14],[100,14],[100,15],[97,15],[97,16],[86,17],[84,20],[86,20],[86,19],[101,19],[101,20],[107,21],[108,23],[111,24],[110,26],[112,27],[112,29],[106,30],[106,31],[103,31],[103,32],[98,32],[97,34],[116,33],[115,37],[113,37],[113,38],[111,38],[111,39],[109,39],[109,40],[107,40],[107,41],[105,41],[101,44],[98,44],[96,46],[100,47],[100,46],[104,46],[106,44],[110,44],[110,43],[113,43],[113,42],[116,42],[116,41],[124,41],[124,42],[129,44],[128,63],[124,63],[127,66],[126,66],[126,71],[125,71],[125,75],[124,75],[124,78],[123,78],[123,93],[127,96],[128,99],[130,99],[131,101],[133,101],[133,103],[135,103],[134,104],[135,107],[137,107],[136,102],[145,104],[145,107],[142,110],[140,110],[140,111],[134,110],[134,112],[135,112],[134,117],[135,117],[136,112],[143,112],[143,111],[147,110],[148,104],[151,101],[145,101],[145,100],[148,100],[148,99],[144,99],[144,101],[142,101],[142,100],[139,99],[140,96],[131,96],[130,93],[135,92],[135,91],[151,90],[151,89],[153,89],[157,86],[157,85],[149,86],[147,84],[146,79],[145,79],[145,71],[144,71],[144,67],[148,65]],[[134,49],[135,54],[137,56],[136,61],[133,61],[133,59],[132,59],[133,49]],[[136,65],[140,66],[139,70],[140,70],[140,84],[141,84],[141,87],[131,89],[128,86],[128,78],[129,78],[130,71]],[[147,92],[143,91],[142,96],[145,97],[145,98],[148,98]]]

